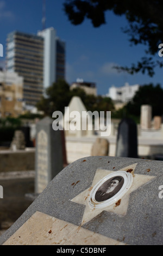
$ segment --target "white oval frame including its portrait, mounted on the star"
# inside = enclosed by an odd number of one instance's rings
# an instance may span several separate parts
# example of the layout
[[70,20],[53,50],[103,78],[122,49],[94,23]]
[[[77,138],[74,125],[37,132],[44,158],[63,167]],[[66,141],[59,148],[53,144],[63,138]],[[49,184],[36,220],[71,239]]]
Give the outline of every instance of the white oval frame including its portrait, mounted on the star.
[[133,183],[133,175],[123,170],[111,173],[92,188],[88,204],[92,209],[106,208],[127,193]]

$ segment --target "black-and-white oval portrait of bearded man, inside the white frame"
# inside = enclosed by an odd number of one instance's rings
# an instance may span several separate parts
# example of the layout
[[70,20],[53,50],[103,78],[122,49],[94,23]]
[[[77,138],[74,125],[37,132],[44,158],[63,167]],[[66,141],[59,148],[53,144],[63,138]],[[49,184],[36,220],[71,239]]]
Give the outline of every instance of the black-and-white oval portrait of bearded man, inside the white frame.
[[121,190],[124,184],[124,179],[122,176],[115,176],[106,180],[97,190],[95,194],[95,200],[97,202],[103,202],[105,200],[114,197],[118,191]]

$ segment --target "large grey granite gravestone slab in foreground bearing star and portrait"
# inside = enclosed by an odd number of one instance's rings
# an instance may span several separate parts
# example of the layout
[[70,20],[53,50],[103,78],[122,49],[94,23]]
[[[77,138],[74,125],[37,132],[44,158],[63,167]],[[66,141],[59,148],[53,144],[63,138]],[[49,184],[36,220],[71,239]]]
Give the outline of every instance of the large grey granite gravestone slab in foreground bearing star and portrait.
[[[162,245],[162,170],[162,161],[79,159],[55,176],[0,237],[0,244]],[[96,190],[102,190],[110,177],[116,182],[123,178],[122,187],[108,201],[95,202]]]

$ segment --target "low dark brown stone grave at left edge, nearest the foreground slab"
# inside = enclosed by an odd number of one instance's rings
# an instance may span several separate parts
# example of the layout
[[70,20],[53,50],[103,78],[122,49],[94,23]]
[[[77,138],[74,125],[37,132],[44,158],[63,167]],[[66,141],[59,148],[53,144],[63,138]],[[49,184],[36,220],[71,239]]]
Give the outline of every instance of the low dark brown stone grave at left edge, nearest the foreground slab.
[[0,173],[0,230],[4,222],[15,222],[32,203],[26,193],[34,192],[34,171]]

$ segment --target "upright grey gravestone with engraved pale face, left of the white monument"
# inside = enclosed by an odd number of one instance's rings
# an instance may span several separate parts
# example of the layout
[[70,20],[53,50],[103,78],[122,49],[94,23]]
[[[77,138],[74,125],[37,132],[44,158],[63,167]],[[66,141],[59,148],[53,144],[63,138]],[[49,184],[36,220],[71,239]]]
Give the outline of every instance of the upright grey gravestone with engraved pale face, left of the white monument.
[[61,131],[54,131],[53,120],[43,118],[36,125],[35,193],[41,193],[64,167]]

